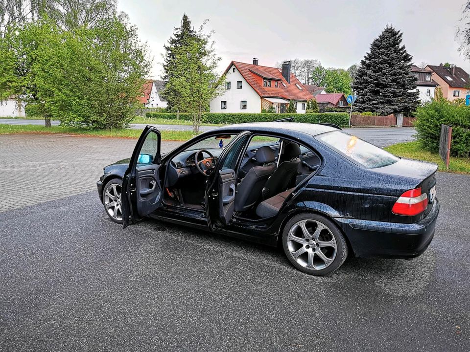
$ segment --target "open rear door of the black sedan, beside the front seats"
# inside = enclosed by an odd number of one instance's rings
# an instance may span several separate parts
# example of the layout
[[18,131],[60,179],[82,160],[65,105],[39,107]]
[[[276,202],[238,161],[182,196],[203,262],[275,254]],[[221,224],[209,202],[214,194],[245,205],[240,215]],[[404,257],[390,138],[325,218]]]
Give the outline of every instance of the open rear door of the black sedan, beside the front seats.
[[239,133],[220,155],[206,188],[206,215],[211,231],[232,219],[235,208],[236,170],[250,132]]

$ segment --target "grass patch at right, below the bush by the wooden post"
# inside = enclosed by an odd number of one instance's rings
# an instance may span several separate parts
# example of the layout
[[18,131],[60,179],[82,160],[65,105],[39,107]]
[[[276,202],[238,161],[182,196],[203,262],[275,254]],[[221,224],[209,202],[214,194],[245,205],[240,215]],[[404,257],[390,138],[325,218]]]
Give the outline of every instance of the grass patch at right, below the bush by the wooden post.
[[[397,143],[384,148],[386,151],[409,159],[431,161],[439,165],[440,171],[447,171],[444,161],[437,153],[431,153],[421,149],[418,141]],[[449,170],[456,173],[470,173],[470,158],[450,157]]]

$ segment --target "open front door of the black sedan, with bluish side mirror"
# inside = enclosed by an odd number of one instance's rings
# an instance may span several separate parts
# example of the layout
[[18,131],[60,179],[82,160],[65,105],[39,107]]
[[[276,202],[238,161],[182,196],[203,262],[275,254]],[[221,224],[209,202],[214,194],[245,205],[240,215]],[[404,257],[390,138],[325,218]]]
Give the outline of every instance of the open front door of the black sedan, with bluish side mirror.
[[160,182],[161,134],[154,127],[143,130],[122,181],[123,227],[139,221],[162,203]]

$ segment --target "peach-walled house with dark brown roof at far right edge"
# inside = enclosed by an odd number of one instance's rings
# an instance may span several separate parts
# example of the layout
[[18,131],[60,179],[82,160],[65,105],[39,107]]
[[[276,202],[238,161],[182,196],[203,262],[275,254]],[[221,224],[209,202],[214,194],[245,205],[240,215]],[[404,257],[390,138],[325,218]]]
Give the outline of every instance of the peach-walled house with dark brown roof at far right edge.
[[430,69],[435,74],[432,79],[442,89],[442,95],[448,100],[465,99],[467,94],[470,94],[469,74],[461,67],[451,65],[450,67],[428,65],[425,67]]

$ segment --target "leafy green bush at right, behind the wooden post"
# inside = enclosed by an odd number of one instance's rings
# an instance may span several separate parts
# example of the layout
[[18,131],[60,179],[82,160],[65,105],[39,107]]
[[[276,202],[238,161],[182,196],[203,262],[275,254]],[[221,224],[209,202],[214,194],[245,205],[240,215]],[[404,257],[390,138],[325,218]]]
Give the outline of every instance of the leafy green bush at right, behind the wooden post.
[[438,152],[441,124],[452,125],[450,154],[453,156],[469,156],[469,107],[452,104],[443,98],[441,94],[431,103],[418,107],[416,117],[417,137],[423,149],[429,152]]

